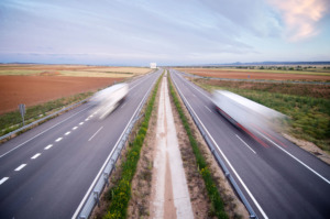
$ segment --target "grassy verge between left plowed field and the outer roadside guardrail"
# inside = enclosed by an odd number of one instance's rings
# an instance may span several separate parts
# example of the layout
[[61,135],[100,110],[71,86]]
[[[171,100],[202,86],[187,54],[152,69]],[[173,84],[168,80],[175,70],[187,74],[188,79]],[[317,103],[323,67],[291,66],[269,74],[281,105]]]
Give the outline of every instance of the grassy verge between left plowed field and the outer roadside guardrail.
[[[26,108],[25,125],[30,124],[63,107],[69,106],[74,102],[81,101],[90,97],[94,92],[81,92],[70,97],[63,97],[56,100],[52,100],[45,103],[32,106]],[[0,135],[4,135],[19,128],[23,127],[22,117],[19,110],[0,114]]]

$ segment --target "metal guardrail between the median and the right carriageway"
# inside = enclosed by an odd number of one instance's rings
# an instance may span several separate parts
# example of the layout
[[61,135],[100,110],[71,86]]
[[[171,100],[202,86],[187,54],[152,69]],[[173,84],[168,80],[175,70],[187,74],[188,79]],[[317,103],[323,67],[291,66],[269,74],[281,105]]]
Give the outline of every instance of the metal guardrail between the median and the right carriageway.
[[[174,80],[173,80],[174,81]],[[244,194],[242,193],[241,188],[238,186],[235,179],[232,177],[232,175],[230,174],[230,172],[228,171],[227,165],[224,164],[224,162],[222,161],[222,158],[220,157],[220,155],[218,153],[216,153],[216,147],[212,143],[212,141],[210,140],[210,138],[208,136],[206,130],[204,129],[204,127],[201,125],[201,123],[198,121],[197,117],[195,116],[195,113],[193,112],[193,109],[190,109],[189,103],[187,103],[186,98],[184,98],[182,91],[177,88],[176,83],[174,81],[174,85],[176,87],[176,90],[178,91],[183,102],[185,103],[188,112],[190,113],[194,122],[196,123],[199,132],[201,133],[202,138],[205,139],[205,141],[207,142],[211,153],[213,154],[213,156],[216,157],[216,161],[218,162],[218,164],[220,165],[220,167],[222,168],[226,177],[228,178],[228,180],[230,182],[230,184],[232,185],[233,189],[237,191],[238,196],[241,198],[243,205],[245,206],[245,208],[248,209],[249,213],[250,213],[250,218],[257,218],[257,216],[255,215],[254,210],[252,209],[250,202],[248,201],[248,199],[245,198]]]

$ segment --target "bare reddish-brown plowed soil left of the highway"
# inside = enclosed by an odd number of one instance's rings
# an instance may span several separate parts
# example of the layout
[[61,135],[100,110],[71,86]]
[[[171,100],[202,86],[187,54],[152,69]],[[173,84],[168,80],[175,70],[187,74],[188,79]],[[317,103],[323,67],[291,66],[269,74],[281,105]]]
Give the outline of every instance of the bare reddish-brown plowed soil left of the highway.
[[0,114],[72,95],[96,91],[122,78],[69,76],[0,76]]

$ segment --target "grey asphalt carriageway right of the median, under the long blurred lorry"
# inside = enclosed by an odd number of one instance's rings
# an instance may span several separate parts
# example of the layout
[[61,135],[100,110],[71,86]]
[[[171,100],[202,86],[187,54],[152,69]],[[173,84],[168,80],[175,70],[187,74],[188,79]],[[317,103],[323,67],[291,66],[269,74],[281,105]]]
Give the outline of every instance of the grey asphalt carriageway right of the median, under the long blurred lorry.
[[231,175],[258,218],[329,218],[330,166],[277,133],[255,141],[224,119],[210,94],[170,69]]

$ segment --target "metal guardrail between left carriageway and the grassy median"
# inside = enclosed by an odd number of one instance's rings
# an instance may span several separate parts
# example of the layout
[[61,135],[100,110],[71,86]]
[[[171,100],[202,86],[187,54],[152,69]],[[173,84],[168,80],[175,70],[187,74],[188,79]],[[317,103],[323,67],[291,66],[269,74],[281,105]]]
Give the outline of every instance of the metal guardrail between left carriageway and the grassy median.
[[[156,81],[156,80],[155,80]],[[138,107],[138,109],[135,110],[134,114],[131,119],[130,123],[127,125],[123,134],[120,136],[120,139],[118,140],[117,144],[114,145],[113,151],[110,153],[109,155],[109,160],[106,161],[106,166],[102,166],[99,175],[96,178],[96,183],[94,182],[92,184],[95,184],[94,186],[91,185],[91,189],[89,191],[87,191],[88,198],[84,201],[82,199],[82,207],[79,209],[78,207],[78,211],[75,212],[75,215],[73,216],[73,219],[87,219],[95,205],[99,204],[99,198],[100,198],[100,194],[103,190],[106,185],[109,185],[109,176],[111,175],[112,171],[116,169],[116,163],[118,161],[118,158],[120,157],[120,153],[121,150],[125,146],[125,143],[129,139],[129,135],[135,124],[135,122],[143,116],[141,113],[141,110],[147,99],[147,97],[150,96],[150,92],[152,90],[152,88],[154,87],[154,84],[150,87],[150,89],[147,90],[147,92],[145,94],[143,100],[141,101],[140,106]]]

